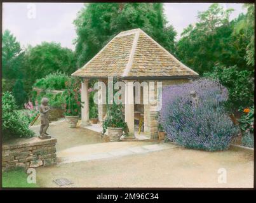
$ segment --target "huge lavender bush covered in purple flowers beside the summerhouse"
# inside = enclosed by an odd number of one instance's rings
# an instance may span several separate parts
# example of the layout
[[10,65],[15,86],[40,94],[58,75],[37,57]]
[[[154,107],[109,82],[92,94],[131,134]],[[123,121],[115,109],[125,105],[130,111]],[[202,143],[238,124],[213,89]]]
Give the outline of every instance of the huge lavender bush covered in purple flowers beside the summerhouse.
[[[193,100],[191,92],[196,92]],[[163,88],[159,122],[173,140],[187,148],[226,150],[238,133],[224,110],[227,89],[216,81],[199,79]]]

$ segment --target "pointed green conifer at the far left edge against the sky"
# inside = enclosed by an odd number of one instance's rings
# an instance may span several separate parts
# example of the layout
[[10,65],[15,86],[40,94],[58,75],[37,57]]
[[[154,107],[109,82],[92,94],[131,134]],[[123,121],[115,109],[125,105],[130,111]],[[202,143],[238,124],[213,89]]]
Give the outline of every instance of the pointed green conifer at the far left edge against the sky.
[[2,41],[2,68],[4,79],[17,79],[22,77],[20,67],[24,58],[24,52],[20,43],[10,30],[4,30]]

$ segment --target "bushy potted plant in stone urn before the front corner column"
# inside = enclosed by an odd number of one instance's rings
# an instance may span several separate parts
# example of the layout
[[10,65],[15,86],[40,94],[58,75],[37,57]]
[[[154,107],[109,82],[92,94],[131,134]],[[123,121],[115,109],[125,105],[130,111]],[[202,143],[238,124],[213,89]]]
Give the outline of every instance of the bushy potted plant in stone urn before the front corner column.
[[114,103],[109,106],[107,117],[103,122],[103,134],[106,130],[110,141],[120,141],[121,136],[128,133],[128,126],[123,115],[123,105]]

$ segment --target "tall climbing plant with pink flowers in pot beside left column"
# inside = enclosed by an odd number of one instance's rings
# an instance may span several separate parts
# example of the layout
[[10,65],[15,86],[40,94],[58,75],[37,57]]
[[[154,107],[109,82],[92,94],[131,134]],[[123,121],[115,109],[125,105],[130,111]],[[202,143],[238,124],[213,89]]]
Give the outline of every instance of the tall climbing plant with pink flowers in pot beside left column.
[[64,108],[65,108],[65,119],[69,123],[69,128],[76,128],[78,117],[81,110],[81,94],[79,80],[71,79],[65,82],[66,90],[64,91]]

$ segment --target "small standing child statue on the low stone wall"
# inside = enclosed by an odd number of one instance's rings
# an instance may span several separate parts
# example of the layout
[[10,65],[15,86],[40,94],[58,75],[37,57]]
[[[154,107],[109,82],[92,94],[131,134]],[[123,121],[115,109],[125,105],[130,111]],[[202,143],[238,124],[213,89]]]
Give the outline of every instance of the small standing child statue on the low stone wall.
[[41,128],[40,128],[40,139],[48,139],[51,138],[48,133],[46,133],[49,127],[49,119],[48,112],[50,111],[50,107],[48,107],[48,98],[42,98],[41,105],[39,107],[40,117],[41,117]]

